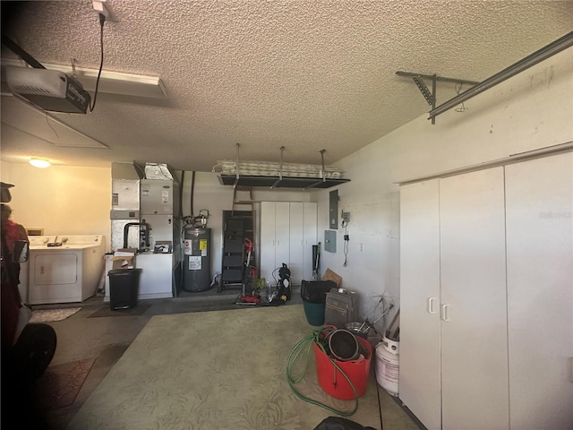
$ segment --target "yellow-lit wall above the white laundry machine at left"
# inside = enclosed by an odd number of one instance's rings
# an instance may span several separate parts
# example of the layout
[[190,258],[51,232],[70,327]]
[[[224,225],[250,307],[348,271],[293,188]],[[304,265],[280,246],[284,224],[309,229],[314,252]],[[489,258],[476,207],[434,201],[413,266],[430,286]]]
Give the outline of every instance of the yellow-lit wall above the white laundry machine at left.
[[13,220],[45,235],[104,235],[109,248],[111,174],[109,168],[2,162],[2,181],[11,188]]

